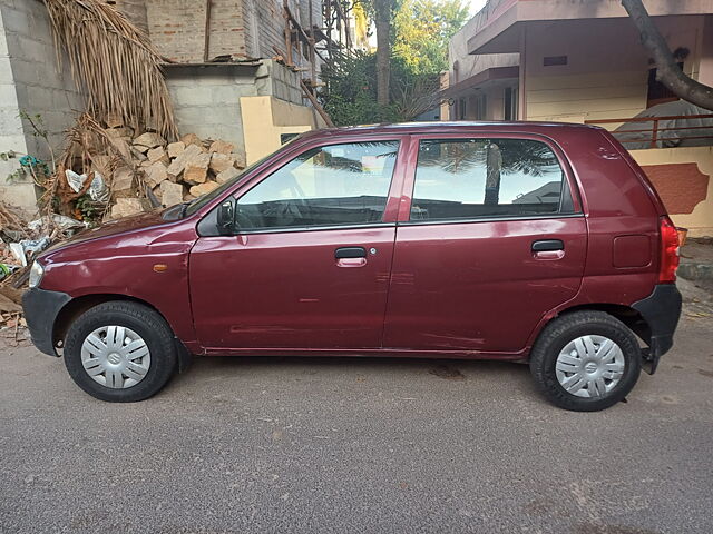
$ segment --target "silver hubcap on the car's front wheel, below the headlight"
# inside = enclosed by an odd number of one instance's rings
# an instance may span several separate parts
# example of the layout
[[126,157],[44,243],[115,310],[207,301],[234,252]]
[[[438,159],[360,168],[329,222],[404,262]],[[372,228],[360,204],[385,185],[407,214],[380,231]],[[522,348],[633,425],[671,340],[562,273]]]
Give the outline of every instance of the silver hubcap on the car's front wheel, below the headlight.
[[81,344],[81,364],[95,382],[125,389],[146,377],[152,355],[146,342],[130,328],[102,326]]

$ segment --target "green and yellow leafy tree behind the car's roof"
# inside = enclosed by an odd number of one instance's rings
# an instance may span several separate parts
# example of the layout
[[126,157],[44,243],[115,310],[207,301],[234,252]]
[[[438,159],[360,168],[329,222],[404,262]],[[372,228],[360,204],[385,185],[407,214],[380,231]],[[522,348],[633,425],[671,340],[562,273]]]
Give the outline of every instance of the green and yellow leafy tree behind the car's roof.
[[323,67],[318,97],[334,123],[412,120],[438,106],[448,41],[468,16],[463,0],[354,1],[373,22],[378,46],[375,53],[343,56]]

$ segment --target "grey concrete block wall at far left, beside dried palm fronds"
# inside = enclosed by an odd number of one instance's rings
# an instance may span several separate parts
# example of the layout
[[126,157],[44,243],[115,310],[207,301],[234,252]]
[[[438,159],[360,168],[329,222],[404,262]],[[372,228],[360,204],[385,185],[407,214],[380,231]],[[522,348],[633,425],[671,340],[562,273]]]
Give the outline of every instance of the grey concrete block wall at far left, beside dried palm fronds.
[[[65,130],[82,110],[82,98],[67,69],[57,65],[52,32],[45,4],[39,0],[0,0],[0,152],[14,150],[49,160],[45,142],[32,135],[21,110],[42,117],[50,144],[60,151]],[[8,184],[17,160],[0,161],[0,199],[35,210],[31,180]]]

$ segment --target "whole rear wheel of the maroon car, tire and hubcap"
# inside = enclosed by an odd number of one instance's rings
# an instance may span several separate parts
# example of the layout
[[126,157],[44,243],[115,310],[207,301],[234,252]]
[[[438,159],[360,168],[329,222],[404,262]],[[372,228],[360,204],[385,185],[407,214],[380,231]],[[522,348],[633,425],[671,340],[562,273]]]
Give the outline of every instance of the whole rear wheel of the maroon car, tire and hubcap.
[[622,400],[641,374],[641,348],[622,322],[604,312],[553,319],[530,354],[540,392],[555,405],[595,412]]

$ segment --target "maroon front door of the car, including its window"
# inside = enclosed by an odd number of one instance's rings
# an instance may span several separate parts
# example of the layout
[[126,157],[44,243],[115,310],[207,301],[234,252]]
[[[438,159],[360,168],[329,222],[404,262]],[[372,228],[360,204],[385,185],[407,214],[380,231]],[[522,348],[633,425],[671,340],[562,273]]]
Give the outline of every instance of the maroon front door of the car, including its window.
[[191,253],[208,352],[381,346],[399,146],[392,137],[305,148],[236,194],[234,235],[199,237]]

